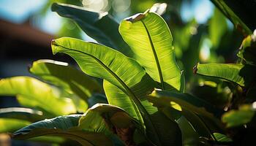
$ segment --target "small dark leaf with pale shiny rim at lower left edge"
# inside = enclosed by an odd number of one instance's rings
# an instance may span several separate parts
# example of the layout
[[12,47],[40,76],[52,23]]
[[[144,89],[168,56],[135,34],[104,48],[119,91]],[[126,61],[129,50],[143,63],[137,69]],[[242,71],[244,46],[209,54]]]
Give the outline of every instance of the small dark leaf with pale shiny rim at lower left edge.
[[0,109],[0,118],[15,118],[37,122],[38,120],[44,119],[44,116],[43,113],[38,110],[23,107],[9,107]]

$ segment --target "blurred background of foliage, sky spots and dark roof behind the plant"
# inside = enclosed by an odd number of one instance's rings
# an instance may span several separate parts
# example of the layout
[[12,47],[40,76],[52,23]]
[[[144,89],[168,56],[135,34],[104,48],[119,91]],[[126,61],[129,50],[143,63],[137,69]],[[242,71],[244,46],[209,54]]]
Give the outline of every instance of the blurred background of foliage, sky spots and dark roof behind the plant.
[[[213,82],[202,83],[200,78],[193,76],[193,66],[198,62],[233,63],[237,59],[236,53],[243,39],[243,35],[234,30],[233,23],[230,23],[209,0],[1,0],[0,78],[31,76],[27,66],[38,59],[75,64],[67,55],[51,53],[50,42],[54,38],[75,37],[94,42],[94,39],[81,31],[72,20],[51,12],[50,6],[53,2],[106,11],[113,15],[117,22],[138,12],[144,12],[155,3],[166,3],[166,12],[162,17],[173,34],[176,58],[178,65],[184,70],[187,92],[197,96],[203,96],[203,93],[195,93],[198,91],[195,88],[208,85],[204,88],[217,90],[217,86]],[[217,93],[222,94],[224,91]],[[228,93],[228,90],[225,93]],[[0,99],[0,107],[19,105],[15,98],[3,97]]]

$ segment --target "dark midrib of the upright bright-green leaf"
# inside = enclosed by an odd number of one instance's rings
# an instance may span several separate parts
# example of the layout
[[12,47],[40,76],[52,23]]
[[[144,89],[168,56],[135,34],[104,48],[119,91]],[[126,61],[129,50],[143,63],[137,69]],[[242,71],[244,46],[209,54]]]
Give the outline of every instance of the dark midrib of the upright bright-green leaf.
[[154,54],[154,58],[155,58],[156,64],[157,64],[157,71],[159,73],[159,78],[160,78],[160,82],[161,82],[161,85],[162,85],[162,90],[165,90],[164,79],[162,77],[162,70],[161,70],[161,66],[159,64],[159,59],[158,59],[158,56],[157,56],[157,52],[156,52],[156,50],[154,48],[154,44],[153,44],[153,41],[152,41],[151,36],[149,34],[148,28],[146,27],[146,24],[144,23],[143,20],[141,20],[141,22],[143,23],[143,26],[145,27],[146,32],[148,34],[148,39],[149,39],[149,42],[150,42],[150,45],[151,45],[152,52]]

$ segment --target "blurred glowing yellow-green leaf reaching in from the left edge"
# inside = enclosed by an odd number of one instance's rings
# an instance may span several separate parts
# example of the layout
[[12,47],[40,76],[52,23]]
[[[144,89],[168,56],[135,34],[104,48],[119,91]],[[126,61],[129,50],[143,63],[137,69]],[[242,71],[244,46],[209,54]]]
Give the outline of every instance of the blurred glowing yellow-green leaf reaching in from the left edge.
[[0,80],[1,96],[18,96],[24,99],[20,101],[30,105],[29,107],[45,110],[52,115],[75,113],[75,105],[71,99],[60,97],[60,94],[57,88],[32,77],[10,77]]

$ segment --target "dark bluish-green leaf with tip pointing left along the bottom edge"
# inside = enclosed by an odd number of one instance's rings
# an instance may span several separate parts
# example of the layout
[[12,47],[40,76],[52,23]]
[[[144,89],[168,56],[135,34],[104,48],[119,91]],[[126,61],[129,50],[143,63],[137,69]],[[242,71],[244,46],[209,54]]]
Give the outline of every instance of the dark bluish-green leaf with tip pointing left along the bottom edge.
[[[15,139],[29,139],[45,135],[64,137],[79,142],[81,145],[111,145],[104,134],[86,132],[78,127],[82,115],[65,115],[53,119],[41,120],[21,128],[13,134]],[[100,131],[99,131],[100,132]]]

